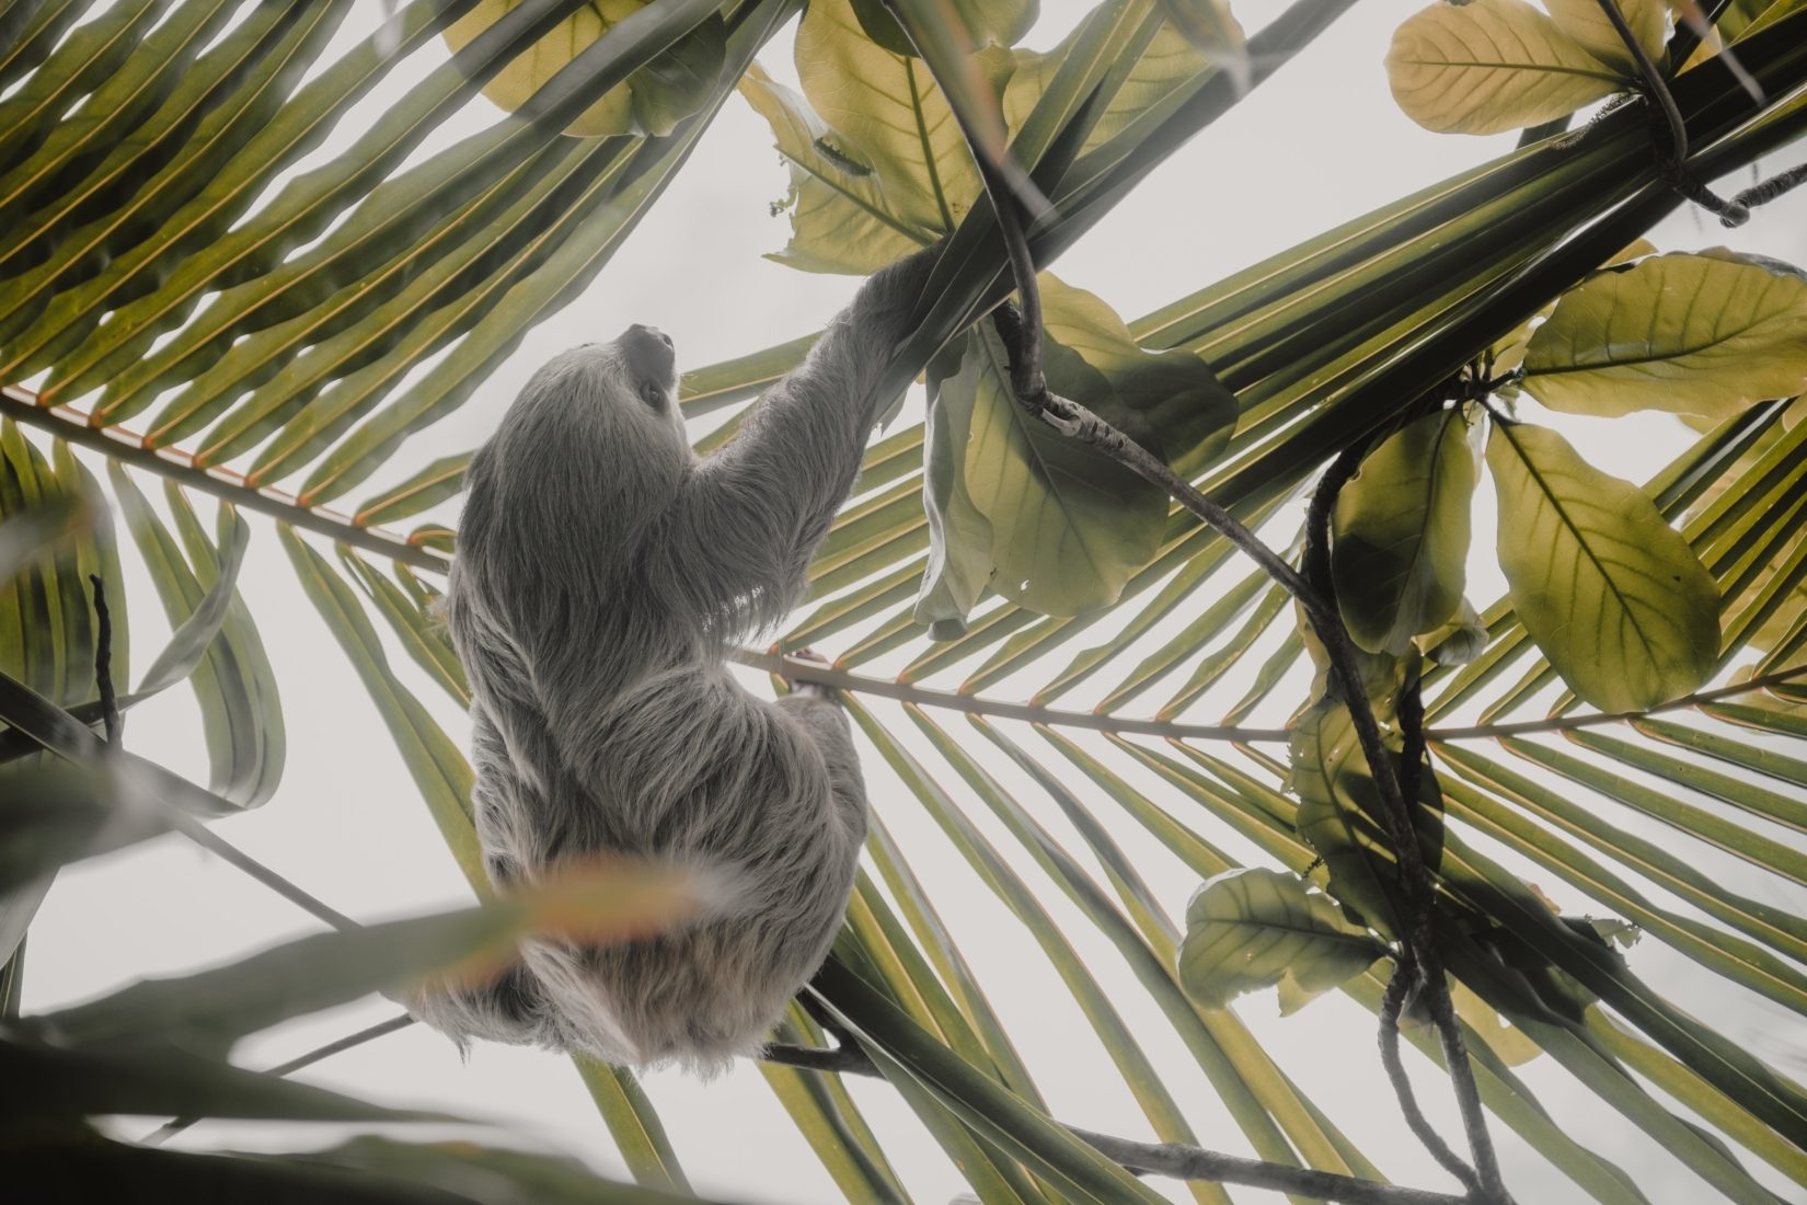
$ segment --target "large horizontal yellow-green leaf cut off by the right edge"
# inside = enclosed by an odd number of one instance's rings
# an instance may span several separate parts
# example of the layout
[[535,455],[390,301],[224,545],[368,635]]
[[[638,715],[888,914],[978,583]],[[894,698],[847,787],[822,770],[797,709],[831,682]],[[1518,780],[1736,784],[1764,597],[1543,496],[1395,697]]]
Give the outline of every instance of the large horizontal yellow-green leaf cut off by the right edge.
[[1724,249],[1599,273],[1532,332],[1525,388],[1570,414],[1715,423],[1793,397],[1807,390],[1807,278]]

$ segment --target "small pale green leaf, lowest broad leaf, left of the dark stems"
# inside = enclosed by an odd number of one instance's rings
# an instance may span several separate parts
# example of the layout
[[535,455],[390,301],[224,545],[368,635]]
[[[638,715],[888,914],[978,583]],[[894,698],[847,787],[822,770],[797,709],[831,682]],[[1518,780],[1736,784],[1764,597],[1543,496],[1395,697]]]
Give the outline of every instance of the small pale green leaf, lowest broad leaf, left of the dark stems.
[[1225,871],[1185,907],[1180,985],[1205,1008],[1276,985],[1315,995],[1384,954],[1373,934],[1297,874]]

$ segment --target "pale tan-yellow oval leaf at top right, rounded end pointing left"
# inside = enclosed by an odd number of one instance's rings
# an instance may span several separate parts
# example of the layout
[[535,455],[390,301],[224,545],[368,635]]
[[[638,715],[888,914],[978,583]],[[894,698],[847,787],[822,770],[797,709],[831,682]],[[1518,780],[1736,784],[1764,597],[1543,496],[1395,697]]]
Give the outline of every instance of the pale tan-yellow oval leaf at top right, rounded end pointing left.
[[1440,134],[1540,125],[1630,83],[1525,0],[1422,9],[1393,33],[1386,76],[1406,116]]

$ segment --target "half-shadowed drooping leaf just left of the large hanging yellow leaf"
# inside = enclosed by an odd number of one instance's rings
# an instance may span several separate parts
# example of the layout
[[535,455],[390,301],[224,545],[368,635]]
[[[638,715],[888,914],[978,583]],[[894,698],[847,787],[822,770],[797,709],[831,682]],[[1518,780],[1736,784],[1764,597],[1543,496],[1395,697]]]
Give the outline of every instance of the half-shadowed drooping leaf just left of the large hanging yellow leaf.
[[1350,636],[1402,654],[1462,603],[1480,426],[1428,414],[1368,453],[1337,495],[1330,571]]

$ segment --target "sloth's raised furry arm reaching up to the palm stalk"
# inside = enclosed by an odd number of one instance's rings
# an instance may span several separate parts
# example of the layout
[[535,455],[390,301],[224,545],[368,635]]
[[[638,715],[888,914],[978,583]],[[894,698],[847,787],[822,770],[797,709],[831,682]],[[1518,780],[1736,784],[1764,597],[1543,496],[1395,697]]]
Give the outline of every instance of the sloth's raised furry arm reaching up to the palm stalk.
[[918,251],[867,280],[808,360],[766,390],[746,426],[685,482],[667,546],[701,611],[739,607],[763,625],[795,603],[891,401],[880,378],[911,331],[936,253]]

